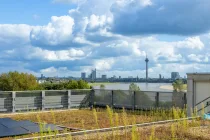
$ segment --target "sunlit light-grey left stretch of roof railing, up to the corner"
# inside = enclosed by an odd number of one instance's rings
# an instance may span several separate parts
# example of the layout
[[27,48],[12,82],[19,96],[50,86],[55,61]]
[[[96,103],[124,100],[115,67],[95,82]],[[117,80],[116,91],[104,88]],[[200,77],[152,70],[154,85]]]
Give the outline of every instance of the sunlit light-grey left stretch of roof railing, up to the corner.
[[89,107],[91,90],[0,92],[0,112]]

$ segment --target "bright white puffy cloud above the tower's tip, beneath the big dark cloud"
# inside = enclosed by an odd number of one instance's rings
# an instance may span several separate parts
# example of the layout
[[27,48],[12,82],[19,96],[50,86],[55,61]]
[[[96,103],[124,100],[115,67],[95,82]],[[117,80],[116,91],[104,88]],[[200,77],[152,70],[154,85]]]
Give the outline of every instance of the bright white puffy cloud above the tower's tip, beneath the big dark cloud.
[[[145,51],[152,61],[168,63],[168,62],[186,62],[187,55],[195,51],[198,53],[205,52],[205,45],[200,37],[187,37],[180,41],[160,41],[154,36],[144,37],[140,39],[140,49]],[[154,51],[155,50],[155,51]]]

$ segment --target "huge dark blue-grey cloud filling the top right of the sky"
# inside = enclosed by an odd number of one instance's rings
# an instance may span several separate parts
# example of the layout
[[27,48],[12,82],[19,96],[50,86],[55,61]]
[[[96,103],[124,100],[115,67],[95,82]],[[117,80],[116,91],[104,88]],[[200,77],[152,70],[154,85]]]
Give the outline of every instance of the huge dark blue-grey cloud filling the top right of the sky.
[[209,9],[208,0],[121,0],[111,8],[112,31],[124,35],[206,33]]

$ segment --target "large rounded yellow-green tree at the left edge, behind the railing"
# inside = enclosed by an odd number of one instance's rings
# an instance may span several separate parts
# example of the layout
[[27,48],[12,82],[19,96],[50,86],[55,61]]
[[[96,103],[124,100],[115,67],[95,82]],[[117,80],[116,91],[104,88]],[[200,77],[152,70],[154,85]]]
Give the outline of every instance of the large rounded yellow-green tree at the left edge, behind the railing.
[[36,81],[36,77],[32,74],[14,71],[0,75],[0,90],[24,91],[36,89],[39,89],[39,84]]

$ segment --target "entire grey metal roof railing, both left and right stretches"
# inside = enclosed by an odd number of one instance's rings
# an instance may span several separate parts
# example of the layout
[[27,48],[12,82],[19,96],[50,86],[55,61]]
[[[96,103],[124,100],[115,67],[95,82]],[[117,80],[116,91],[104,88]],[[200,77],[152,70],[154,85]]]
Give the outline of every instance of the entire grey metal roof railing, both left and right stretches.
[[186,93],[129,90],[43,90],[0,92],[0,112],[88,108],[183,108]]

